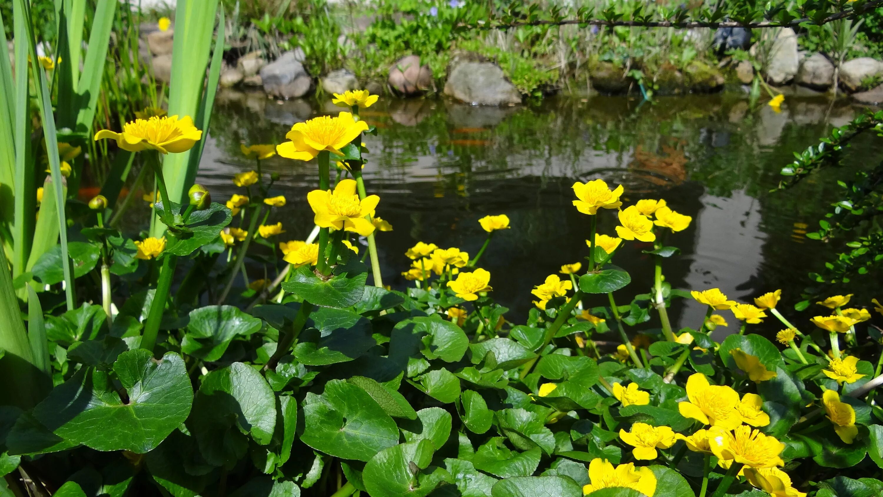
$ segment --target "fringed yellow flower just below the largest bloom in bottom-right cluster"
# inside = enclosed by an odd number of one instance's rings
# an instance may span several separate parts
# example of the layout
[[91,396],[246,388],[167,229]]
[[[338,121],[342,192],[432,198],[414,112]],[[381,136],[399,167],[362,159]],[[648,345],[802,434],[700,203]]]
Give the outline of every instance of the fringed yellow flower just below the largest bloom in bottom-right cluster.
[[718,459],[732,460],[743,463],[751,468],[773,468],[785,462],[779,456],[785,444],[751,426],[741,425],[734,431],[722,426],[713,426],[709,430],[709,445]]

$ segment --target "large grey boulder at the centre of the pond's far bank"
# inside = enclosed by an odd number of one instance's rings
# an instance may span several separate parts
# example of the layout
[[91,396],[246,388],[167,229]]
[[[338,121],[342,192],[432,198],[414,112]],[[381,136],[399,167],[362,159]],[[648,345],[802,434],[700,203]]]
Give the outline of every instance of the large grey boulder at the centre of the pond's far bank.
[[521,93],[491,62],[464,62],[451,70],[444,93],[461,102],[479,105],[521,103]]

